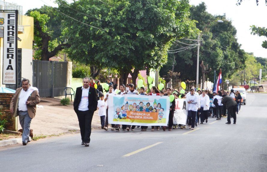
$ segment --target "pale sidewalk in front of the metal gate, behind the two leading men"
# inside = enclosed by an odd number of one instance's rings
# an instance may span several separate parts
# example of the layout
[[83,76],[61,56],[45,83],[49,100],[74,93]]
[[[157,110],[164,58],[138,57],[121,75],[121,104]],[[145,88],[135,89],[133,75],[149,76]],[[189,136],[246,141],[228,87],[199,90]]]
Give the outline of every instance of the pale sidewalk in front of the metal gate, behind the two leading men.
[[[36,110],[36,115],[32,119],[31,123],[31,129],[33,129],[34,135],[55,136],[64,133],[71,133],[73,131],[79,131],[79,122],[77,115],[73,110],[73,102],[71,102],[71,104],[68,106],[62,106],[60,104],[60,99],[41,98],[41,103],[39,103],[38,106],[39,107]],[[40,108],[40,106],[43,106],[44,108]],[[98,110],[94,113],[91,128],[101,128]],[[18,129],[21,129],[19,123]],[[9,145],[8,143],[22,143],[21,138],[16,140],[17,141],[12,139],[1,140],[0,146]]]

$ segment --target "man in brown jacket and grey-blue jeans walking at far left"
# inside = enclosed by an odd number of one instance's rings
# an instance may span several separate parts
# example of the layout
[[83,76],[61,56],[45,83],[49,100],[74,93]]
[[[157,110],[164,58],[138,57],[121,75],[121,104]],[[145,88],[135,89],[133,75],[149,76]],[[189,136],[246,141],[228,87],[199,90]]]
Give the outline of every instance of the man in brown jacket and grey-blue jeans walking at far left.
[[23,130],[22,144],[25,146],[30,142],[30,125],[32,118],[35,117],[36,104],[40,103],[38,89],[30,85],[28,79],[22,80],[22,87],[16,89],[11,102],[10,112],[13,117],[19,116],[19,123]]

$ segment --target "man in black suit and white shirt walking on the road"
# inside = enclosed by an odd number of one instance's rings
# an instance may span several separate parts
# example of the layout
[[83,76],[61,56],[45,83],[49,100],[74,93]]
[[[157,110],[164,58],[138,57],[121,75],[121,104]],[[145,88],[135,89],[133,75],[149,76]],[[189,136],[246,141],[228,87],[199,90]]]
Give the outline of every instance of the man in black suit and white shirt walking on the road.
[[83,86],[76,89],[73,102],[74,111],[79,120],[82,145],[85,146],[89,146],[90,143],[92,118],[98,104],[96,90],[89,86],[89,81],[88,77],[83,78]]

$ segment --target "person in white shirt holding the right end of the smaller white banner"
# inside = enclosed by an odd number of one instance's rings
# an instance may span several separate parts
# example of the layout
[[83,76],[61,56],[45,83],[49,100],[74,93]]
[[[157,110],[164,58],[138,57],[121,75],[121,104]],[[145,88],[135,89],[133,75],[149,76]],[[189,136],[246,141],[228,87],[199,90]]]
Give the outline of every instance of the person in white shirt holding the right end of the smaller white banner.
[[186,100],[188,103],[188,108],[187,108],[188,128],[193,130],[195,128],[196,112],[198,109],[198,101],[199,101],[198,95],[195,95],[195,89],[193,88],[190,89],[190,95],[186,96]]

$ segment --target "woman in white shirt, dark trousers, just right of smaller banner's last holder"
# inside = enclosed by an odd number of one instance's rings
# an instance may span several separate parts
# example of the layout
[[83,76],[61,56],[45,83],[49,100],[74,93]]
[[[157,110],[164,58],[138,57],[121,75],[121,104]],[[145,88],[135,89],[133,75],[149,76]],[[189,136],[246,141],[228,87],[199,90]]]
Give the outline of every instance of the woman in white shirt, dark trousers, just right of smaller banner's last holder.
[[209,113],[209,97],[206,95],[205,90],[202,91],[202,94],[199,95],[200,99],[200,124],[203,124],[206,119],[206,123],[208,122],[208,113]]

